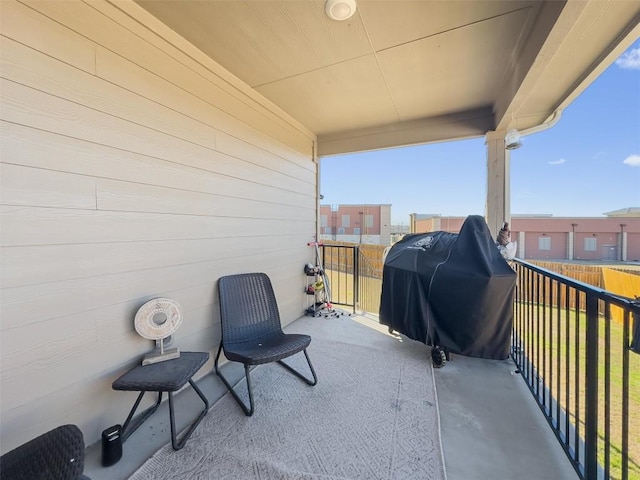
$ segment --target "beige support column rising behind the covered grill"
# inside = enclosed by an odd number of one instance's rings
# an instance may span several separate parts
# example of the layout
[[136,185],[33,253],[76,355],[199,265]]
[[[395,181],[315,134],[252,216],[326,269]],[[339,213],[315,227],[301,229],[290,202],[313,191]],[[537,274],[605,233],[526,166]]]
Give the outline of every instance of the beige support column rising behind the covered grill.
[[509,150],[504,148],[505,130],[487,132],[487,200],[485,219],[495,237],[503,222],[511,223],[511,174]]

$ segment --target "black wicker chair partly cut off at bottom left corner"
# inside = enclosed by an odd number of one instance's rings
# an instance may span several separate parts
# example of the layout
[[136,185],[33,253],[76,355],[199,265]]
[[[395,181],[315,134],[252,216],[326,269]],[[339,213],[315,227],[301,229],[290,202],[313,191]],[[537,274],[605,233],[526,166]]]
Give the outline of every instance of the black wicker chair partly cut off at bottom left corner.
[[84,438],[75,425],[62,425],[0,457],[2,480],[89,480]]

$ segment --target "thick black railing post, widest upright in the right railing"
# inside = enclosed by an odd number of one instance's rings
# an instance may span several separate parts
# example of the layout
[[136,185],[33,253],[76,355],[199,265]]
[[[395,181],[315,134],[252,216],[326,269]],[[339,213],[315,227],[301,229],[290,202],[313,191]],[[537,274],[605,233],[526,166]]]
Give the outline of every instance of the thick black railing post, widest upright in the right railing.
[[585,471],[586,480],[598,476],[598,298],[587,293],[587,351],[585,365]]

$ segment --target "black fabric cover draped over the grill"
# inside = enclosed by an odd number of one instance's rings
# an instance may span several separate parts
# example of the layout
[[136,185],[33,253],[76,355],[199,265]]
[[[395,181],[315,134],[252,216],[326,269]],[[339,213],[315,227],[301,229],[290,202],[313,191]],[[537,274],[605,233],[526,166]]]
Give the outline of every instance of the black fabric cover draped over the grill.
[[516,274],[483,217],[405,236],[384,262],[380,323],[470,357],[509,356]]

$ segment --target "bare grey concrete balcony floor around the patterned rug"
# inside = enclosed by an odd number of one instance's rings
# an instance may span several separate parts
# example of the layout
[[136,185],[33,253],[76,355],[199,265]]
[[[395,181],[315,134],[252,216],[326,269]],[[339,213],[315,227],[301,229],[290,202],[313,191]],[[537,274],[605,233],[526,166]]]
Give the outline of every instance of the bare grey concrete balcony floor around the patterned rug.
[[[362,335],[363,326],[372,334]],[[397,341],[398,338],[389,335],[386,327],[378,324],[374,316],[303,317],[285,331],[304,332],[312,338],[337,335],[342,341],[348,339],[359,345]],[[223,368],[231,378],[242,377],[241,365],[228,363]],[[511,360],[484,360],[459,355],[451,355],[443,368],[435,369],[448,480],[578,478],[515,370]],[[215,374],[205,375],[198,385],[211,405],[226,393]],[[202,405],[199,402],[195,395],[177,394],[176,410],[197,412]],[[85,475],[92,480],[126,479],[168,443],[166,403],[125,442],[123,457],[116,465],[102,467],[100,442],[90,445],[86,450]],[[189,419],[185,418],[181,424],[180,415],[176,416],[178,427],[186,426]]]

